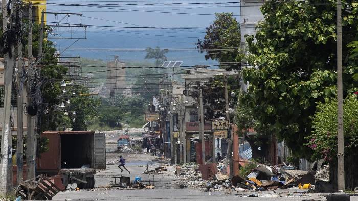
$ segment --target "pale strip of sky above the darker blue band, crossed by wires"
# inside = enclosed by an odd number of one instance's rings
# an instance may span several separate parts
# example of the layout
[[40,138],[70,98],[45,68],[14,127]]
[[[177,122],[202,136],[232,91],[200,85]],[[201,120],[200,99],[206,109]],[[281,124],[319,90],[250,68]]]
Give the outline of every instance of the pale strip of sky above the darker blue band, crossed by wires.
[[[199,0],[200,2],[203,0]],[[153,0],[150,1],[126,1],[125,3],[153,3]],[[163,1],[161,1],[163,2]],[[170,1],[166,2],[170,3]],[[176,2],[186,2],[183,0],[177,0]],[[211,1],[211,2],[227,2],[223,0]],[[51,3],[88,3],[88,4],[98,4],[98,3],[108,3],[116,4],[123,3],[123,1],[47,1],[48,4]],[[233,5],[233,4],[232,4]],[[131,24],[139,24],[143,26],[153,26],[153,27],[206,27],[209,23],[214,20],[213,15],[187,15],[187,14],[173,14],[173,13],[154,13],[154,12],[140,12],[140,11],[126,11],[118,9],[130,9],[130,10],[143,10],[143,11],[159,11],[159,12],[179,12],[179,13],[201,13],[201,14],[214,14],[215,12],[233,12],[234,15],[239,15],[239,4],[236,4],[237,7],[215,7],[215,8],[172,8],[172,7],[163,7],[163,8],[148,8],[148,7],[110,7],[110,8],[96,8],[96,7],[85,7],[85,6],[60,6],[60,5],[48,5],[47,10],[49,12],[76,12],[83,13],[82,23],[83,24],[105,24],[110,26],[118,26],[120,23],[103,21],[98,19],[86,18],[94,17],[101,18],[111,21],[118,21]],[[57,16],[59,21],[63,16]],[[77,16],[70,16],[69,20],[72,23],[78,22]],[[47,21],[56,21],[53,14],[47,15]],[[66,22],[66,19],[64,21]],[[122,24],[123,25],[123,24]]]

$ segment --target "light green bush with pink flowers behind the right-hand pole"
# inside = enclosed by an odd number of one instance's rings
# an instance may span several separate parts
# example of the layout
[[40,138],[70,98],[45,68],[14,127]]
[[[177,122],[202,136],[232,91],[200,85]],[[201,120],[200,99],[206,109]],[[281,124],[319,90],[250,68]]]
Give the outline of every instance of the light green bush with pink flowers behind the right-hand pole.
[[[312,149],[312,160],[332,161],[337,158],[337,98],[319,102],[312,117],[312,134],[306,144]],[[358,99],[348,96],[343,104],[343,130],[345,155],[355,154],[358,147]]]

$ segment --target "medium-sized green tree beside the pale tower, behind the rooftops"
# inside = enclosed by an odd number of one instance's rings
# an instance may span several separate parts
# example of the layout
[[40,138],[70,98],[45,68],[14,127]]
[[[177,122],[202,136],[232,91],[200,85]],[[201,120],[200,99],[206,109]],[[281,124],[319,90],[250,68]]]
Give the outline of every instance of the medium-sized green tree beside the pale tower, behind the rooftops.
[[206,28],[203,40],[195,44],[200,53],[205,52],[205,59],[217,60],[222,67],[238,68],[240,47],[240,25],[233,13],[215,13],[215,21]]

